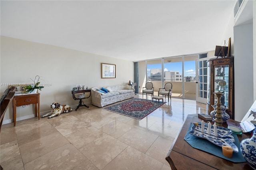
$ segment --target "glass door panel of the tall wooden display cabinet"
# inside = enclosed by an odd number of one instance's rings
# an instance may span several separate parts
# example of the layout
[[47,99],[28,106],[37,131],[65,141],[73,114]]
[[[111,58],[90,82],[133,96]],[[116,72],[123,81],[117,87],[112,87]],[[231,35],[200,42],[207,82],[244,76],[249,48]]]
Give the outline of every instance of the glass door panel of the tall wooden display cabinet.
[[[214,92],[223,93],[220,103],[228,108],[228,92],[229,92],[229,65],[214,66]],[[217,103],[217,97],[214,95],[214,104]]]

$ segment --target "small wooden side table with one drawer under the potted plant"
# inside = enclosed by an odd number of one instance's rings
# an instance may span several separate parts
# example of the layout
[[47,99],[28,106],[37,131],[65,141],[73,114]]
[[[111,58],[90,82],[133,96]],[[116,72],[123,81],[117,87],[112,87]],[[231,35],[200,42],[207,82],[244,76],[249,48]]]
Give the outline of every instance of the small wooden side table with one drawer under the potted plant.
[[16,126],[16,107],[30,104],[35,104],[35,115],[36,117],[38,115],[38,120],[40,120],[40,93],[14,95],[12,100],[12,117],[14,126]]

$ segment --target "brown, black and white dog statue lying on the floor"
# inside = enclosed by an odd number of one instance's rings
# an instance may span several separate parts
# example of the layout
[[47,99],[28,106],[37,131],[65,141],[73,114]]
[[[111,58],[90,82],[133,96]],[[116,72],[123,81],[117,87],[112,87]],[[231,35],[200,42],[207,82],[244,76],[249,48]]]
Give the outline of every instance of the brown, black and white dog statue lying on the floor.
[[72,109],[69,105],[60,105],[60,103],[52,103],[51,105],[52,111],[50,113],[46,113],[45,115],[42,115],[42,117],[49,116],[48,118],[52,118],[55,116],[60,116],[62,113],[68,113],[71,112]]

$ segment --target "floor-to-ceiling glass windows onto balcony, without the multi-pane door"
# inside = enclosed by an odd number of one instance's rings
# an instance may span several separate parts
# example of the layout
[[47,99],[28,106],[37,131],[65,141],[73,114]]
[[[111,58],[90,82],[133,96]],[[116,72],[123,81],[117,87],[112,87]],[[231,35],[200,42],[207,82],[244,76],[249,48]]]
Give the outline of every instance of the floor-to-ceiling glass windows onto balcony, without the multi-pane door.
[[[196,99],[196,59],[199,55],[139,61],[139,93],[151,81],[154,95],[166,83],[172,83],[172,97]],[[144,70],[144,71],[143,71]]]

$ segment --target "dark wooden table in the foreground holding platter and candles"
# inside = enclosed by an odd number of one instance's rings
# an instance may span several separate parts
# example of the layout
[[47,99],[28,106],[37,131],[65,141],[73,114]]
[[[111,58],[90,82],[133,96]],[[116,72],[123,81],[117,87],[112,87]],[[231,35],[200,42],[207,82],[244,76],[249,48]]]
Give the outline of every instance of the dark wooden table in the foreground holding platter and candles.
[[[228,160],[222,159],[218,156],[214,156],[202,150],[193,148],[188,144],[184,137],[188,131],[189,125],[191,122],[201,122],[202,119],[199,119],[197,114],[188,115],[186,121],[184,121],[180,132],[176,136],[172,147],[170,148],[166,160],[170,164],[172,170],[250,170],[250,166],[247,162],[243,163],[234,163]],[[236,122],[232,119],[228,121]],[[223,124],[224,127],[227,127],[226,124]],[[249,138],[246,134],[238,135],[238,139],[241,141],[244,138]]]

